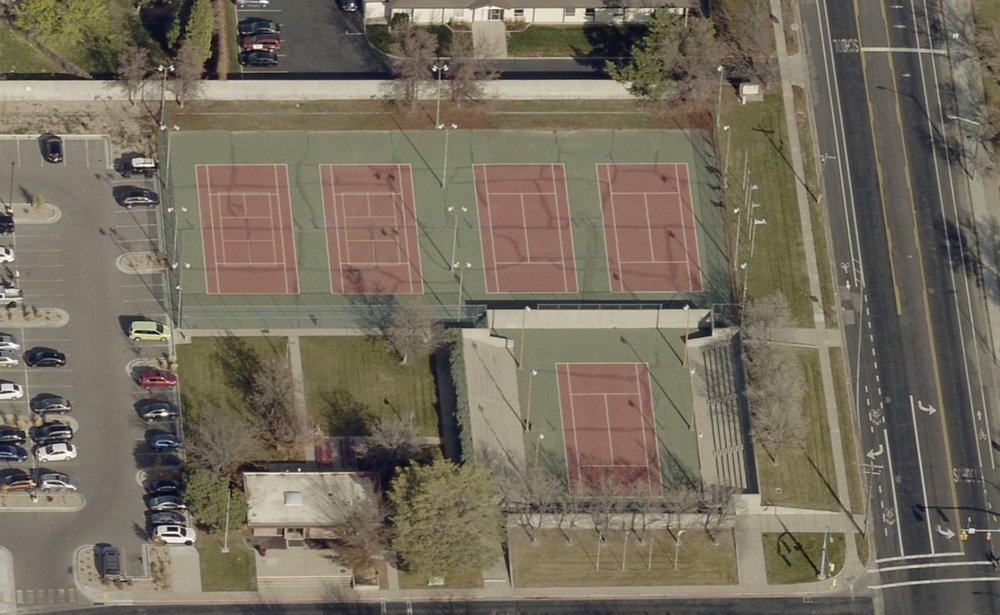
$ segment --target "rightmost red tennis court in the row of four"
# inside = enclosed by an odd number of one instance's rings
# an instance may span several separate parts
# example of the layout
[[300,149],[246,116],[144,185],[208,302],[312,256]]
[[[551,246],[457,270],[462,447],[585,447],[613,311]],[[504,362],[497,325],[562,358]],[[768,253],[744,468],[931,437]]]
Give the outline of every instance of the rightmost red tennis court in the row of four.
[[599,164],[611,291],[701,290],[686,164]]

